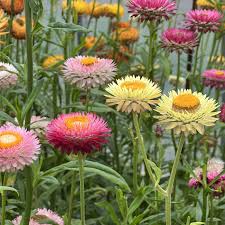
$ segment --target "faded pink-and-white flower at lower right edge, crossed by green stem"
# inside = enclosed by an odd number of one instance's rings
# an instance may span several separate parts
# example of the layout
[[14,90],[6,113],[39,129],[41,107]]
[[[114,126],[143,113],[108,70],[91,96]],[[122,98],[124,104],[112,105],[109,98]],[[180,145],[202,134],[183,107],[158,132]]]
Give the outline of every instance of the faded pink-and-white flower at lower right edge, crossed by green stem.
[[[216,159],[211,159],[207,163],[206,182],[213,190],[213,193],[218,196],[225,192],[225,175],[224,162]],[[194,170],[194,176],[189,180],[189,187],[199,188],[203,186],[203,169],[197,167]]]

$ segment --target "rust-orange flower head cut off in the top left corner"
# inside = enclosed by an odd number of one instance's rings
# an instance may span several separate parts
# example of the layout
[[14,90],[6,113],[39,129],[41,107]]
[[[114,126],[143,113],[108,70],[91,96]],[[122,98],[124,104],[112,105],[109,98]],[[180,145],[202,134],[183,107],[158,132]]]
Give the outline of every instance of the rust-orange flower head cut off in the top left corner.
[[19,14],[24,9],[24,0],[14,0],[12,13],[12,0],[0,0],[0,7],[8,14]]

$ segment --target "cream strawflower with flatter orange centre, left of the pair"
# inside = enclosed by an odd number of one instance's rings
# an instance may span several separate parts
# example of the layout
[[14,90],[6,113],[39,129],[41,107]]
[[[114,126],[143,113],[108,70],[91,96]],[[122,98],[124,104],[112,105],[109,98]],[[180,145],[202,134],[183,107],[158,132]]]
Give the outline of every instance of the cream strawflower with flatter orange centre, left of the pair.
[[151,105],[158,102],[161,90],[152,81],[144,77],[126,76],[109,84],[105,89],[108,92],[107,104],[117,105],[122,112],[143,112],[151,110]]

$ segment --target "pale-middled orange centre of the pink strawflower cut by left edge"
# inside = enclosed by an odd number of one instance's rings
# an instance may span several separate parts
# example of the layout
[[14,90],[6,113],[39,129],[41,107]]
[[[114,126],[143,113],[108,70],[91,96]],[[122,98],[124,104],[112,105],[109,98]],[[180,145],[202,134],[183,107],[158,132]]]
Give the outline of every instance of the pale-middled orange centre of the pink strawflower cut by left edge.
[[23,137],[13,131],[3,131],[0,133],[0,149],[12,148],[22,141]]

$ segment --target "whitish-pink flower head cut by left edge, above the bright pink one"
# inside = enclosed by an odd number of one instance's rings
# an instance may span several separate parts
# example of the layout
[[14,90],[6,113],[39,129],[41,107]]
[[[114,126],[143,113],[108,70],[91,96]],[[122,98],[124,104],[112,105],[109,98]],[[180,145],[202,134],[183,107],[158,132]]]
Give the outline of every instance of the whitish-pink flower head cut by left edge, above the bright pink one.
[[0,89],[16,85],[18,80],[17,69],[8,63],[0,62]]

